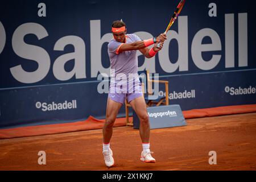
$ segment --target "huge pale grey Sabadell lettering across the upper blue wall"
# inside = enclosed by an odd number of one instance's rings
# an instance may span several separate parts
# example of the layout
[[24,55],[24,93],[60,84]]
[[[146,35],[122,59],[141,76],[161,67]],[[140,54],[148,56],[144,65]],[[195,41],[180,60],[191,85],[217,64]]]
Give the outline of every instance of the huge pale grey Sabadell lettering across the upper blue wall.
[[[238,27],[235,29],[235,17],[238,16],[237,22]],[[221,17],[224,19],[224,24],[221,26],[221,29],[218,28],[219,32],[213,30],[212,28],[199,27],[199,30],[196,34],[189,34],[189,16],[179,16],[179,23],[177,24],[178,30],[170,30],[167,32],[167,40],[164,44],[162,51],[158,53],[158,61],[160,68],[163,69],[163,73],[174,73],[175,71],[184,72],[189,71],[189,64],[191,61],[195,64],[195,66],[199,70],[210,71],[217,67],[220,64],[220,61],[225,61],[225,68],[236,68],[235,67],[235,48],[238,47],[238,67],[248,67],[248,48],[247,48],[247,39],[248,39],[248,25],[247,25],[247,13],[238,13],[237,14],[224,14]],[[22,22],[26,22],[23,20]],[[110,42],[113,38],[111,33],[106,33],[104,35],[101,34],[101,20],[89,20],[88,26],[90,28],[90,37],[86,38],[86,40],[90,40],[90,42],[85,42],[84,39],[80,38],[77,35],[77,32],[72,32],[72,35],[58,35],[54,37],[53,35],[49,35],[48,32],[52,32],[55,29],[50,29],[53,27],[44,27],[42,24],[38,22],[28,22],[23,24],[15,24],[13,26],[16,27],[14,32],[7,32],[5,30],[10,30],[7,24],[7,28],[4,27],[4,24],[0,22],[0,54],[2,50],[5,48],[7,43],[6,40],[12,40],[12,47],[8,46],[9,51],[15,53],[15,55],[11,55],[15,57],[16,55],[22,57],[24,60],[22,62],[18,61],[16,65],[10,67],[10,73],[15,78],[15,80],[22,82],[24,84],[32,84],[39,82],[46,78],[50,72],[53,72],[54,77],[52,80],[60,80],[67,81],[71,80],[74,76],[76,79],[82,79],[87,77],[97,77],[98,73],[107,73],[110,75],[110,67],[105,68],[102,64],[104,61],[102,60],[101,52],[102,46],[105,43]],[[12,28],[13,28],[12,26]],[[47,30],[49,29],[49,30]],[[234,36],[234,33],[229,32],[238,32],[238,36]],[[220,32],[226,32],[225,38],[220,36]],[[11,35],[13,34],[13,35]],[[63,33],[64,34],[64,33]],[[142,39],[148,39],[148,37],[152,37],[150,32],[140,31],[134,32],[134,34],[138,35]],[[12,38],[6,38],[7,36],[12,36]],[[188,36],[189,35],[189,36]],[[39,42],[37,44],[28,44],[25,42],[24,37],[26,36],[37,36],[38,39],[43,39],[48,36],[51,38],[47,38],[49,41],[48,44],[55,44],[53,50],[44,49],[39,46]],[[210,44],[203,44],[202,40],[205,37],[209,37],[211,39]],[[221,39],[222,38],[222,39]],[[237,38],[239,41],[237,41]],[[170,42],[172,40],[176,40],[177,49],[178,49],[178,59],[175,60],[175,64],[171,63],[170,60]],[[192,40],[192,41],[191,41]],[[222,47],[222,44],[225,42],[225,47]],[[237,44],[234,44],[237,42]],[[90,43],[90,44],[89,44]],[[89,45],[88,45],[89,44]],[[56,60],[52,60],[55,51],[63,51],[64,47],[67,45],[72,45],[75,48],[75,52],[65,53],[57,57]],[[85,45],[90,47],[90,57],[85,57]],[[22,47],[22,49],[20,48]],[[191,50],[188,48],[191,47]],[[13,48],[13,50],[10,50]],[[183,51],[181,51],[183,50]],[[202,52],[211,52],[211,51],[222,51],[225,50],[225,55],[221,53],[216,53],[212,55],[212,59],[204,60],[202,57]],[[192,60],[189,58],[191,52]],[[87,54],[87,52],[86,52]],[[105,55],[104,55],[105,56]],[[225,56],[225,59],[221,59]],[[8,57],[8,59],[10,59]],[[67,72],[64,68],[65,63],[67,61],[74,59],[75,65],[72,69],[72,72]],[[89,59],[89,62],[88,60]],[[38,64],[38,67],[35,68],[35,71],[28,72],[26,69],[23,69],[23,65],[26,65],[28,61],[32,60]],[[20,62],[20,63],[19,63]],[[90,63],[90,75],[86,74],[86,65]],[[223,64],[223,63],[221,63]],[[236,63],[237,64],[237,63]],[[147,68],[150,72],[155,72],[155,57],[151,58],[151,61],[145,61],[143,66],[139,67],[140,70]],[[51,70],[52,69],[52,70]],[[2,70],[1,70],[2,71]]]

